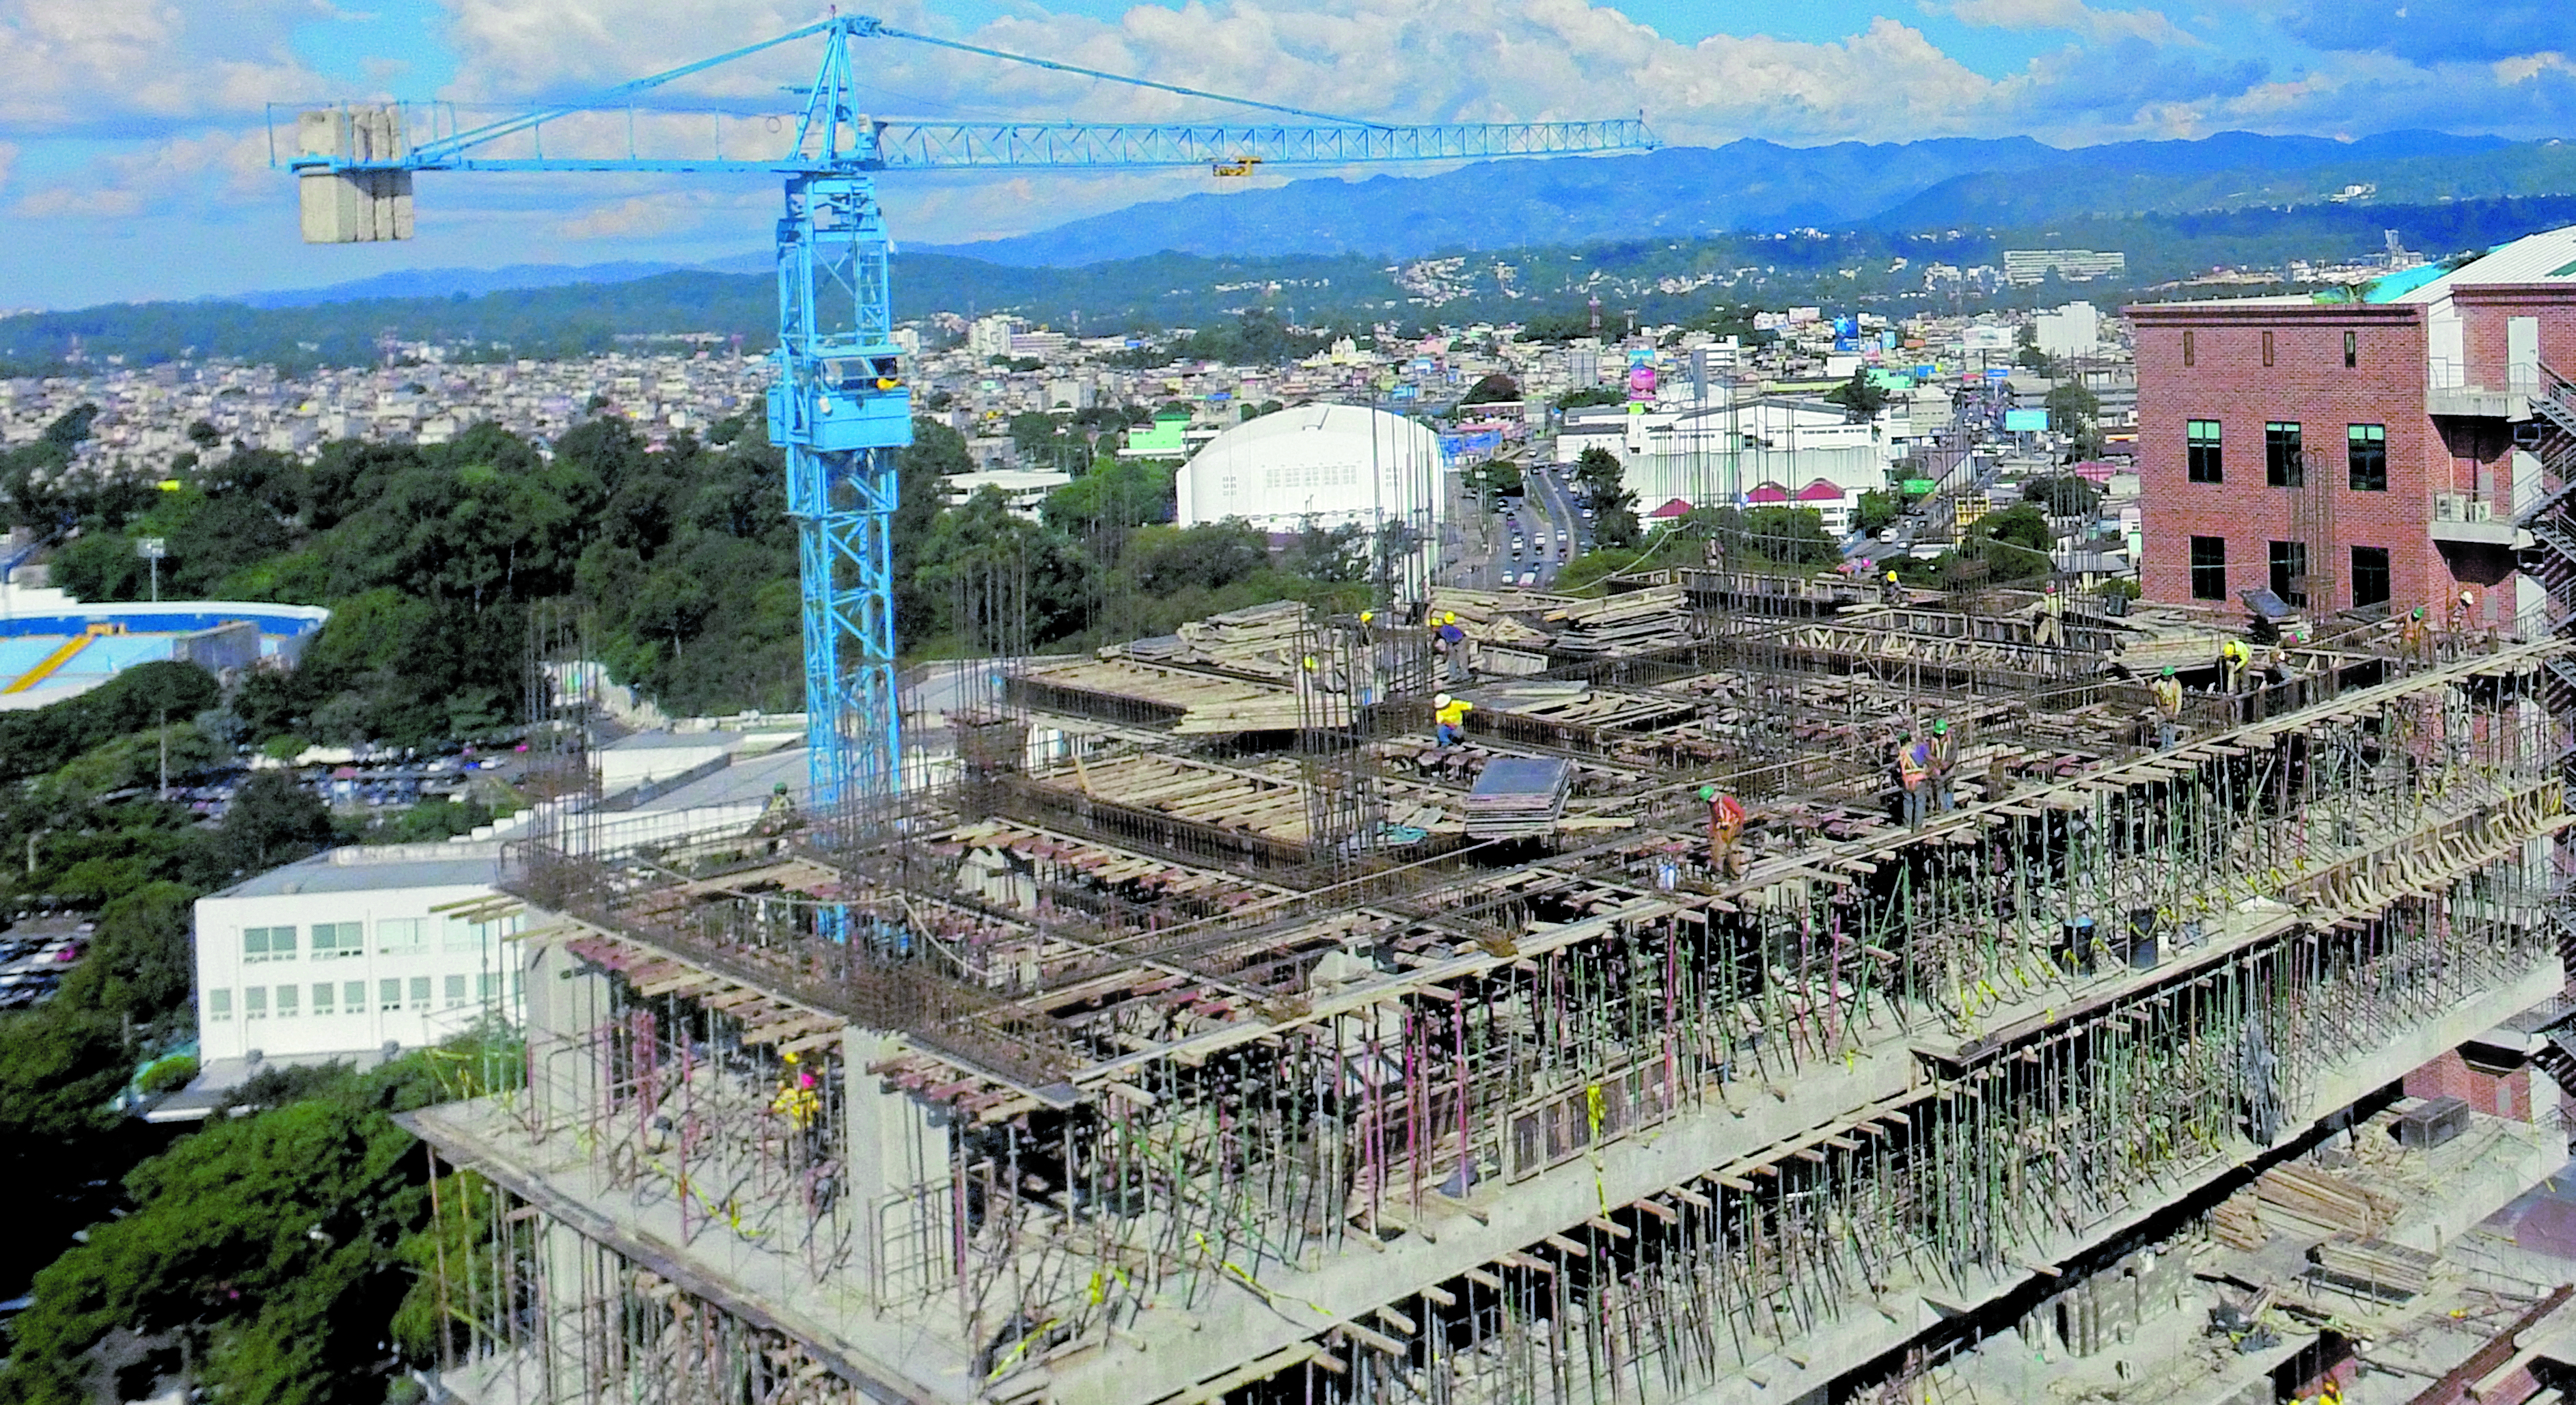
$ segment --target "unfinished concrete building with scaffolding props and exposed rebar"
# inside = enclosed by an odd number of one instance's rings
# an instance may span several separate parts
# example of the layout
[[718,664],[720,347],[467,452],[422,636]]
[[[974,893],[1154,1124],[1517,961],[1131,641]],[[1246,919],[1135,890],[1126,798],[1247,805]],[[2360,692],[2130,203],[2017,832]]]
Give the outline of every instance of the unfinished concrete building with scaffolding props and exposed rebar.
[[[2190,608],[1620,585],[1030,660],[899,815],[520,846],[526,1085],[410,1119],[443,1384],[2550,1369],[2514,1343],[2566,1294],[2442,1250],[2566,1160],[2568,644],[2334,621],[2226,691],[2239,621]],[[1909,828],[1891,745],[1929,722],[1950,794]]]

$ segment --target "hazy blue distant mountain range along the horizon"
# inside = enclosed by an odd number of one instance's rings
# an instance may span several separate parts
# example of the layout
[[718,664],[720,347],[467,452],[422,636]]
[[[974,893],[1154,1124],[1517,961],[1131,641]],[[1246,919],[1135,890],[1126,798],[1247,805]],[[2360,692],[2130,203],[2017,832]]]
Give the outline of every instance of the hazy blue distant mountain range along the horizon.
[[[969,245],[907,245],[1007,268],[1203,258],[1425,258],[1723,232],[2032,227],[2050,219],[2313,204],[2445,204],[2576,193],[2576,147],[2445,131],[2357,142],[2221,131],[2195,142],[2058,150],[2027,137],[1906,144],[1664,147],[1623,157],[1476,162],[1437,175],[1306,178],[1149,201]],[[770,255],[688,266],[765,273]],[[675,263],[420,268],[325,289],[245,294],[250,307],[482,296],[618,284]]]

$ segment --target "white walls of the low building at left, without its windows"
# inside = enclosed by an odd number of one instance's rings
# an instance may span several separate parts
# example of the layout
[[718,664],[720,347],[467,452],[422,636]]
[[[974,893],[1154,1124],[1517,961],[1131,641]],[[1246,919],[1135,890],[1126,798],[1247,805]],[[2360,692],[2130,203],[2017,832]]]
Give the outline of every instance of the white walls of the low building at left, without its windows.
[[[492,925],[451,920],[433,907],[492,897],[482,884],[381,887],[368,892],[294,892],[273,897],[201,897],[196,905],[196,1021],[201,1060],[237,1060],[247,1049],[343,1054],[435,1044],[497,1011],[518,1018],[520,918]],[[358,923],[353,954],[314,951],[314,925]],[[412,928],[410,923],[420,923]],[[245,951],[247,928],[294,928],[294,954]],[[410,941],[410,936],[420,941]],[[386,1008],[394,982],[394,1008]],[[314,987],[330,987],[330,1013]],[[294,1008],[278,990],[294,990]],[[358,987],[358,1008],[350,1008]],[[258,993],[258,1000],[252,1000]],[[252,1011],[252,1003],[260,1008]]]

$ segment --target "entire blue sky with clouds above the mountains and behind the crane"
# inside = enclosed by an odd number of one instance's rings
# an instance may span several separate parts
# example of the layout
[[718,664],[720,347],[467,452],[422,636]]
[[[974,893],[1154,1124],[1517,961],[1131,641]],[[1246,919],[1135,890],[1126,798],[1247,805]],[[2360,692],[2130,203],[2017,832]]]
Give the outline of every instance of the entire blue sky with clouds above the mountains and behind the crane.
[[[0,309],[314,286],[392,268],[757,250],[765,180],[422,175],[420,240],[307,247],[268,103],[572,95],[819,18],[804,0],[0,0]],[[1669,142],[2576,126],[2550,0],[884,0],[889,23],[1394,121],[1646,111]],[[1198,108],[909,44],[878,116]],[[768,111],[809,57],[688,95]],[[698,121],[701,126],[690,126]],[[732,142],[757,139],[734,124]],[[672,119],[672,150],[703,119]],[[891,183],[899,237],[1015,235],[1211,188],[1193,173]]]

